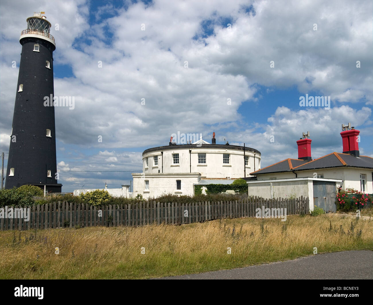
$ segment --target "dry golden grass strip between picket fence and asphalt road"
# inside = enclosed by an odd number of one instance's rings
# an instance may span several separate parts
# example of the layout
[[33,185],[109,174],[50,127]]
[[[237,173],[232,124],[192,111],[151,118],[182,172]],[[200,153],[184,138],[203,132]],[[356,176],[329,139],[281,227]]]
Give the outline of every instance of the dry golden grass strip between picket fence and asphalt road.
[[314,255],[314,247],[318,253],[373,250],[372,224],[324,214],[287,221],[5,231],[0,278],[146,279],[284,261]]

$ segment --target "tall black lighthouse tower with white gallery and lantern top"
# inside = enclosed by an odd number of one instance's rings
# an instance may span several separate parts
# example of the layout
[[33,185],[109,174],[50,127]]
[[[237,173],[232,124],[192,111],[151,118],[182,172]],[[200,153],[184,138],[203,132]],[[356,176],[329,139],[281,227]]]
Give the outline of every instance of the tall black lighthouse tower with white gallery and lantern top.
[[[14,106],[5,188],[37,185],[61,192],[57,183],[53,51],[50,22],[42,13],[27,18]],[[44,106],[45,101],[50,105]]]

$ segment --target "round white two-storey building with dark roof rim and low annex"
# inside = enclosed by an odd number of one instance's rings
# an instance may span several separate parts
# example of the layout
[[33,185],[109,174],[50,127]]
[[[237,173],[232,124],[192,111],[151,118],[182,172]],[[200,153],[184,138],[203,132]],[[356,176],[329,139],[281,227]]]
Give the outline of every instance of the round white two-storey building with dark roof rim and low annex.
[[193,195],[194,185],[232,183],[260,169],[260,151],[243,146],[212,144],[200,139],[189,144],[169,142],[142,153],[142,173],[133,173],[134,196]]

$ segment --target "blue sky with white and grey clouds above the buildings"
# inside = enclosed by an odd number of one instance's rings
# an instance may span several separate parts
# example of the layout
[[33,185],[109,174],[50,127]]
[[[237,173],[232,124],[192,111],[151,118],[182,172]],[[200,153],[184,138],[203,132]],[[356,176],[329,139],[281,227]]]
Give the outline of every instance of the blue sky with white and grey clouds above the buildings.
[[[40,11],[56,40],[54,94],[75,98],[74,109],[55,109],[63,191],[128,184],[142,151],[177,132],[245,143],[264,167],[297,158],[307,131],[313,158],[342,152],[341,124],[351,122],[360,154],[373,157],[370,0],[2,0],[5,167],[19,36]],[[305,94],[330,97],[330,109],[301,107]]]

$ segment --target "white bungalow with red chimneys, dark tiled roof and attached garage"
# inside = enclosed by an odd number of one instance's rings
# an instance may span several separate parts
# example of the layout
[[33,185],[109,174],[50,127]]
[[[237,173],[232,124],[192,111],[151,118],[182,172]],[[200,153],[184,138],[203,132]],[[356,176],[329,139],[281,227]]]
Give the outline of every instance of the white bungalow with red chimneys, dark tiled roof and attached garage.
[[251,172],[256,176],[247,179],[248,194],[264,198],[310,198],[310,210],[314,206],[325,211],[336,210],[336,191],[354,188],[373,193],[373,158],[360,155],[358,134],[360,131],[342,125],[343,150],[323,157],[311,158],[311,139],[303,133],[297,141],[298,159],[288,158],[263,169]]

